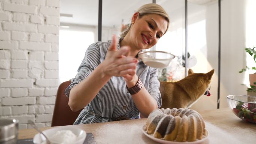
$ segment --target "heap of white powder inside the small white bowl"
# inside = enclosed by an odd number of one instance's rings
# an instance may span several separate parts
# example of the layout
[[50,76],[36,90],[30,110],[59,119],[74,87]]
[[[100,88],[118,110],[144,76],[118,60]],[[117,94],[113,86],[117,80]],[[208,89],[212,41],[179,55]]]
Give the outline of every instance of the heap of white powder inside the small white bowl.
[[[49,140],[52,143],[56,144],[73,144],[77,139],[77,136],[70,130],[57,131]],[[41,144],[46,144],[46,141],[43,141]]]

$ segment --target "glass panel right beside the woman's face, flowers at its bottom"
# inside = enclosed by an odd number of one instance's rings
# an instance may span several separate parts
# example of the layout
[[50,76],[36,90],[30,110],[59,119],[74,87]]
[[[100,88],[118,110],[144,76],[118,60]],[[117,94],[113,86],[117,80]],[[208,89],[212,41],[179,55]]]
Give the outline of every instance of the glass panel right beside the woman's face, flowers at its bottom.
[[182,65],[182,55],[185,54],[185,1],[156,0],[156,3],[168,13],[170,25],[165,35],[159,39],[155,49],[167,51],[179,57],[174,58],[166,69],[159,69],[158,74],[162,77],[160,80],[178,81],[185,77],[185,67]]

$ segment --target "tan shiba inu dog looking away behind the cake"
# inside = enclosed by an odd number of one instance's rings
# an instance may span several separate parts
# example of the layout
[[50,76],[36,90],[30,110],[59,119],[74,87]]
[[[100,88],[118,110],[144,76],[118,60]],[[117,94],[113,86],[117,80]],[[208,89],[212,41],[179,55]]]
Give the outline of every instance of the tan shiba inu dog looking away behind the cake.
[[194,73],[178,82],[160,82],[161,108],[189,108],[202,95],[210,96],[210,82],[214,70],[208,73]]

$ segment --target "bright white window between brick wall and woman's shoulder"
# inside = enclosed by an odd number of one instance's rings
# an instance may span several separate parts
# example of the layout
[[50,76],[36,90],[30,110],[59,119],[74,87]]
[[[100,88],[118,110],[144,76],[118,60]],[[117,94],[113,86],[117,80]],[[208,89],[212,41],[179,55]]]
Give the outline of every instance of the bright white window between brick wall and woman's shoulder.
[[60,83],[74,78],[85,51],[94,43],[92,31],[60,30],[59,80]]

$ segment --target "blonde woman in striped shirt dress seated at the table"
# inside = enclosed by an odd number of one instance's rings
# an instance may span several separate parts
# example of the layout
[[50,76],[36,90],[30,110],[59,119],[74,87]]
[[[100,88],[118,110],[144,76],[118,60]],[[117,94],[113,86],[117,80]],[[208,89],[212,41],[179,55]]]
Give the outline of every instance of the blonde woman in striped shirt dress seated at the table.
[[161,106],[157,69],[138,61],[142,49],[156,45],[169,26],[158,4],[134,13],[130,27],[112,43],[93,43],[66,89],[72,111],[84,108],[74,125],[147,117]]

